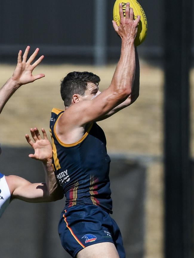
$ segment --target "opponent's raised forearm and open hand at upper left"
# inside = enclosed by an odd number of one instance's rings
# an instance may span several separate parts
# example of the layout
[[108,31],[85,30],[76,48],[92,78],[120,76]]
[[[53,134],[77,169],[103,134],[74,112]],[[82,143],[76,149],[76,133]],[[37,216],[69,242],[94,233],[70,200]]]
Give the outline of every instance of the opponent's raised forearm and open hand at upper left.
[[[0,113],[3,110],[8,99],[13,95],[13,93],[21,86],[30,82],[34,82],[37,79],[44,77],[44,74],[38,74],[36,76],[32,75],[34,68],[43,60],[44,56],[39,57],[36,62],[32,65],[31,63],[37,56],[39,49],[37,48],[34,53],[27,60],[27,55],[30,47],[27,46],[23,59],[21,60],[22,51],[18,53],[18,63],[13,72],[12,77],[4,84],[0,89]],[[26,61],[27,60],[27,61]]]

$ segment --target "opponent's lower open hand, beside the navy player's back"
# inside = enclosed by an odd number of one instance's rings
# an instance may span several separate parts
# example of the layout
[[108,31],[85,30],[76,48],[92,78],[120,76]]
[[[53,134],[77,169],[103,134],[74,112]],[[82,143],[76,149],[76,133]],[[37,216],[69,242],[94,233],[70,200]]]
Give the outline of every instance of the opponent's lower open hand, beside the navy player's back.
[[30,139],[29,135],[25,135],[27,142],[34,149],[34,154],[29,154],[29,157],[35,160],[41,160],[42,162],[47,162],[52,159],[53,149],[47,138],[45,130],[42,128],[43,138],[37,128],[31,128],[30,132],[34,142]]

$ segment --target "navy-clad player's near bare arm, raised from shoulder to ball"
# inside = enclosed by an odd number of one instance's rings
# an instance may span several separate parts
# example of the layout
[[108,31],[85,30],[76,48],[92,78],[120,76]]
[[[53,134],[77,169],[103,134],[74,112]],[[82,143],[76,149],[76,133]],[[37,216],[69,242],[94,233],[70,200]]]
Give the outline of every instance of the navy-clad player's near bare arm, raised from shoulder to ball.
[[121,37],[121,56],[112,82],[106,90],[93,100],[80,101],[70,106],[58,121],[59,134],[62,134],[62,129],[66,121],[70,121],[72,126],[82,126],[88,122],[96,121],[131,95],[135,77],[134,40],[137,35],[140,16],[138,15],[137,19],[135,21],[133,20],[133,9],[129,9],[129,3],[126,6],[125,18],[122,4],[119,5],[119,12],[121,17],[120,26],[118,27],[114,21],[113,26]]

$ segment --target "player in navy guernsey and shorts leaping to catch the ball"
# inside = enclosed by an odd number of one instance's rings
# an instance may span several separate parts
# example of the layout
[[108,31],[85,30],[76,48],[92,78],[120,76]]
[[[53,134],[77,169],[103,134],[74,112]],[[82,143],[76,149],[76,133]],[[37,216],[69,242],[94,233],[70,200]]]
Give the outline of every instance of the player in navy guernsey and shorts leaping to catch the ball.
[[[110,86],[102,93],[100,78],[89,72],[71,72],[61,82],[65,110],[54,108],[50,118],[53,165],[63,187],[66,205],[58,232],[62,246],[77,258],[124,258],[121,232],[110,217],[109,164],[106,138],[96,123],[132,104],[139,94],[139,63],[134,46],[138,15],[119,5],[121,56]],[[118,171],[119,173],[119,171]]]

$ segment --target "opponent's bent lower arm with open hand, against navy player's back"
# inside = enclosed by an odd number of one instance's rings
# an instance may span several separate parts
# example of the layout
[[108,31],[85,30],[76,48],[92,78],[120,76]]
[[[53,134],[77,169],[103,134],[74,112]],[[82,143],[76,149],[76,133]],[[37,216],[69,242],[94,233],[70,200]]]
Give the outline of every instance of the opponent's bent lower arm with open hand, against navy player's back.
[[46,183],[30,183],[27,180],[16,177],[15,189],[12,198],[17,198],[27,202],[48,202],[62,199],[64,194],[61,187],[58,185],[52,166],[52,147],[47,134],[42,129],[43,139],[37,128],[30,129],[33,142],[29,135],[26,135],[26,140],[33,147],[35,153],[29,154],[29,157],[35,160],[41,160],[44,166]]

